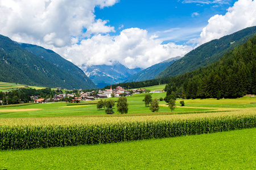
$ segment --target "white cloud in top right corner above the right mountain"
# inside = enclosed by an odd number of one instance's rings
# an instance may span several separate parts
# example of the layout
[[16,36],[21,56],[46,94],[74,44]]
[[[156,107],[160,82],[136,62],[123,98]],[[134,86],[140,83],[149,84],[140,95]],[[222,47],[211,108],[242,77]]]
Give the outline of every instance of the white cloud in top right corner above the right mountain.
[[225,15],[214,15],[208,20],[208,25],[203,28],[197,43],[201,45],[255,25],[256,1],[239,0],[233,7],[228,8]]

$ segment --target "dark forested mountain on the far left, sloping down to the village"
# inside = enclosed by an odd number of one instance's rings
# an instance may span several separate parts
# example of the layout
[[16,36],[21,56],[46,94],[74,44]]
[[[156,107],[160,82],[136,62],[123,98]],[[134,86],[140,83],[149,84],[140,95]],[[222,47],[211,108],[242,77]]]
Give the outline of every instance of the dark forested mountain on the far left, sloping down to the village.
[[[30,46],[30,45],[27,45]],[[37,46],[39,48],[39,46]],[[42,51],[48,53],[54,53],[52,51],[40,48]],[[31,50],[32,51],[32,50]],[[16,42],[0,35],[0,81],[10,83],[27,84],[31,86],[43,86],[43,87],[62,87],[62,88],[97,88],[96,85],[86,75],[82,75],[82,78],[78,78],[72,72],[73,69],[67,70],[68,66],[62,62],[59,67],[52,62],[47,61],[45,54],[40,54],[41,57],[36,54],[22,48]],[[60,57],[60,56],[59,56]],[[52,56],[52,60],[55,60],[56,55]],[[59,60],[61,60],[59,58]],[[68,62],[68,61],[67,61]],[[69,64],[72,64],[69,62]],[[61,67],[63,65],[63,67]],[[73,64],[72,64],[73,65]],[[72,66],[76,67],[76,66]]]

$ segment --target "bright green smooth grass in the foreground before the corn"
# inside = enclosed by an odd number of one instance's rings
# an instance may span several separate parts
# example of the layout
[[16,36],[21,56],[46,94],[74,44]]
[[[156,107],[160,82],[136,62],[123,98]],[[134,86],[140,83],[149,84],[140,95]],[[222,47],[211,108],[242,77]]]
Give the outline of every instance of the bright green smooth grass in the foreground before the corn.
[[0,151],[0,169],[255,169],[256,128],[106,145]]

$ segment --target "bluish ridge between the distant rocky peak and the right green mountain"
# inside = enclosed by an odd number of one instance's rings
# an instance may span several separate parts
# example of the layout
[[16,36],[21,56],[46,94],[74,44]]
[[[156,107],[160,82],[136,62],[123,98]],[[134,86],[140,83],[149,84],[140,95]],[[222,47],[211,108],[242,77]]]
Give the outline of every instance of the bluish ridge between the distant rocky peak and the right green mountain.
[[167,59],[166,61],[157,63],[147,69],[140,71],[132,76],[130,76],[125,82],[140,82],[143,80],[154,79],[158,74],[160,74],[166,67],[170,66],[171,63],[175,62],[177,59],[181,57],[175,57]]

